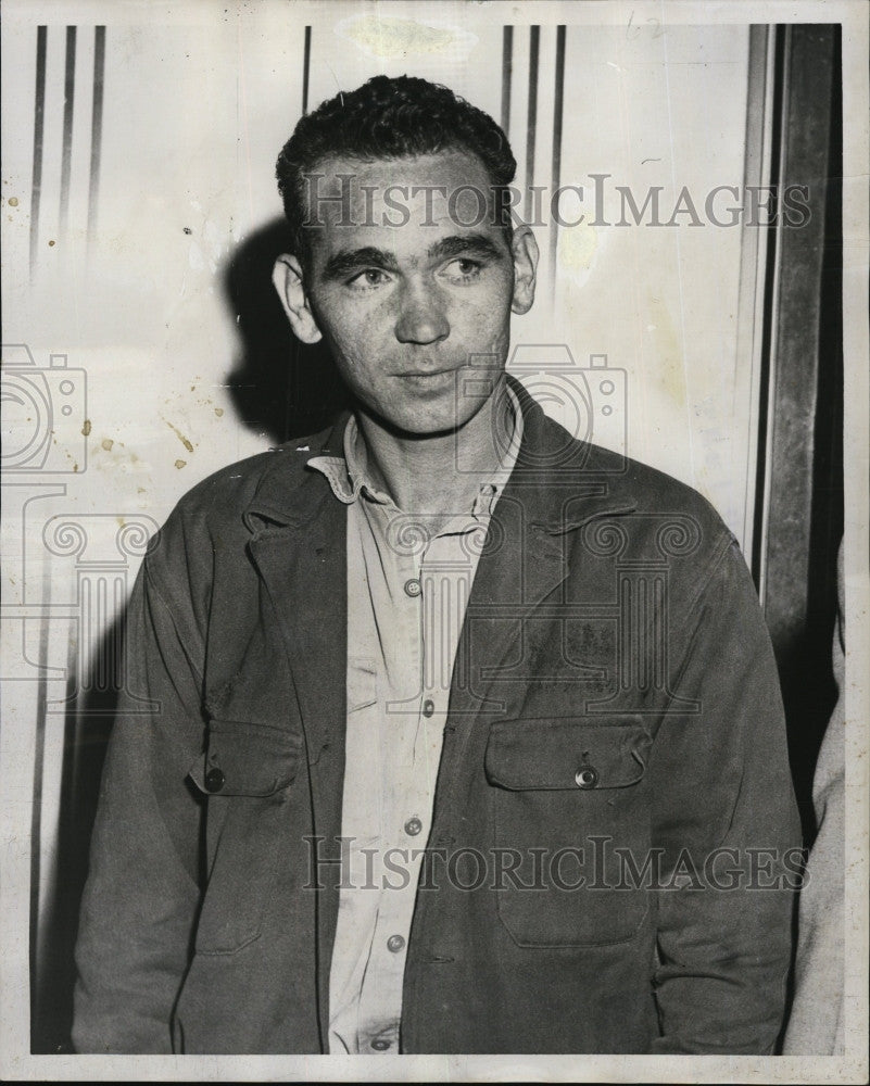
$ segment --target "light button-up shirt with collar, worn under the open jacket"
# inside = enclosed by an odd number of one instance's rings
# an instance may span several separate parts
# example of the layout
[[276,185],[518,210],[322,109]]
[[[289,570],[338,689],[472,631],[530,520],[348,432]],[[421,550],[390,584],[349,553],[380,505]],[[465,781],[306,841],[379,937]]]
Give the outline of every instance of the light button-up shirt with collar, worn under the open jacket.
[[[352,416],[344,457],[315,457],[348,506],[348,721],[342,880],[329,977],[329,1051],[395,1053],[411,922],[451,678],[487,528],[516,463],[522,415],[470,510],[438,523],[369,481]],[[510,416],[513,415],[513,418]],[[451,510],[444,510],[450,514]]]

